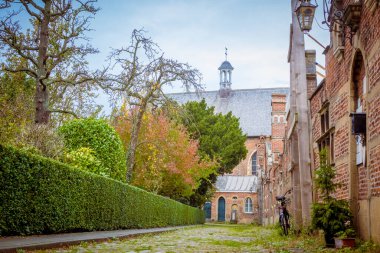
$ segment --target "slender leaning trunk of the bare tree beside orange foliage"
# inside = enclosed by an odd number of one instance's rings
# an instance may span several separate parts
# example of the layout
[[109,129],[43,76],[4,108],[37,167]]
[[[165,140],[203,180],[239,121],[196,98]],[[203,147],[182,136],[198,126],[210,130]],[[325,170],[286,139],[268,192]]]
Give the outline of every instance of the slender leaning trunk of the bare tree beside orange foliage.
[[[132,131],[131,131],[131,140],[129,141],[129,146],[127,150],[127,175],[126,179],[129,183],[132,180],[133,169],[135,167],[136,159],[136,149],[138,144],[138,138],[142,123],[142,118],[146,110],[147,103],[143,102],[142,105],[138,108],[135,116],[132,117]],[[132,114],[133,115],[133,114]]]

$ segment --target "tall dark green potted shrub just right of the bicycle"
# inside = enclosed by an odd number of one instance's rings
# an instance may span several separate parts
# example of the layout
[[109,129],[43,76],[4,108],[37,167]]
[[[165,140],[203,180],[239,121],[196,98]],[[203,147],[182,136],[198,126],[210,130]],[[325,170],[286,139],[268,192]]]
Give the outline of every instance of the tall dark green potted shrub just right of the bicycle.
[[352,213],[346,200],[338,200],[333,193],[340,186],[334,182],[335,170],[328,163],[326,149],[321,150],[320,167],[316,171],[315,185],[319,193],[319,202],[313,204],[312,226],[322,229],[327,247],[334,247],[334,236],[346,231],[352,224]]

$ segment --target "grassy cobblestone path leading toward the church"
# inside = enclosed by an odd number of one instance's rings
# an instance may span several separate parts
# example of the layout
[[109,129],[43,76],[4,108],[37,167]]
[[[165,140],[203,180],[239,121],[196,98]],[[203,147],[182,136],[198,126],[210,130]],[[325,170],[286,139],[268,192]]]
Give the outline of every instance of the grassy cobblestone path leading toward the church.
[[207,224],[155,235],[137,236],[123,240],[114,239],[102,243],[82,243],[79,246],[65,249],[37,252],[308,253],[337,251],[324,249],[323,241],[318,237],[284,237],[276,229],[253,225]]

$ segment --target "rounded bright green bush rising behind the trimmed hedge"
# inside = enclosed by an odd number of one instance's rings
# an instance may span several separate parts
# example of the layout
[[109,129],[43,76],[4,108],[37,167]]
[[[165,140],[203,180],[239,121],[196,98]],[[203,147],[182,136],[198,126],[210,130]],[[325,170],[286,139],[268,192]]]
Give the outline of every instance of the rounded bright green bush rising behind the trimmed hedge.
[[125,181],[126,162],[123,145],[115,130],[105,120],[75,119],[60,127],[59,132],[64,137],[68,152],[90,148],[93,151],[91,155],[105,168],[102,173],[109,172],[107,176]]

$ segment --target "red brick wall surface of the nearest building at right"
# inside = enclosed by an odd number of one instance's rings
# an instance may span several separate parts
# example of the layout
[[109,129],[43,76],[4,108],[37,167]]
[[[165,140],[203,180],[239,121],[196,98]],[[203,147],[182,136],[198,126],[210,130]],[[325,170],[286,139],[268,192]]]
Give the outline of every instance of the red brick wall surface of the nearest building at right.
[[[343,0],[343,8],[352,2]],[[346,29],[348,34],[349,28]],[[310,97],[313,165],[314,168],[319,166],[318,141],[323,134],[320,113],[325,106],[330,112],[329,122],[334,134],[336,181],[343,185],[335,196],[350,200],[356,220],[363,223],[357,224],[359,234],[364,239],[372,234],[372,239],[380,242],[380,220],[372,220],[370,233],[365,225],[371,223],[369,217],[376,217],[376,210],[380,208],[380,204],[375,204],[380,203],[376,199],[380,197],[380,6],[376,7],[375,0],[362,1],[359,29],[351,41],[345,38],[341,57],[334,55],[333,48],[334,45],[330,45],[325,51],[326,78]],[[349,113],[355,112],[358,98],[367,115],[367,131],[365,159],[356,165],[357,145],[351,133]],[[368,211],[360,211],[358,207]]]

